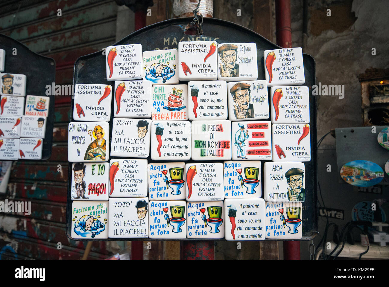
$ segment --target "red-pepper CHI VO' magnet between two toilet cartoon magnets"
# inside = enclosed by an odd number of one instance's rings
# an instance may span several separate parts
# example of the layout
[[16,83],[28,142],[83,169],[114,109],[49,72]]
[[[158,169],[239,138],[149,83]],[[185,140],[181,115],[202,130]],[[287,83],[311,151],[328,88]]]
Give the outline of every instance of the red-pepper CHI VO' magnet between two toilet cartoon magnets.
[[185,171],[187,201],[224,200],[223,163],[187,163]]

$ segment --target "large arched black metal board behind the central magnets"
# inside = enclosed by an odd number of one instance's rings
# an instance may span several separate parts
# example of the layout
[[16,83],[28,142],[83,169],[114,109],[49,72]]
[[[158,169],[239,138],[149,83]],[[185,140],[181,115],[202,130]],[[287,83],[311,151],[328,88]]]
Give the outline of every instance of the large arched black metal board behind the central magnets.
[[[203,35],[185,35],[185,28],[189,22],[192,21],[192,17],[187,18],[175,18],[159,22],[145,28],[142,28],[127,37],[121,39],[119,42],[112,44],[124,45],[124,44],[142,44],[143,51],[152,51],[155,49],[174,49],[178,48],[178,42],[180,41],[203,41],[203,40],[215,40],[219,43],[248,43],[254,42],[257,45],[257,57],[258,57],[258,79],[265,79],[264,58],[263,51],[270,49],[281,49],[269,40],[265,39],[258,33],[255,33],[243,26],[231,23],[228,21],[204,18],[203,19]],[[301,240],[311,240],[318,232],[318,213],[317,213],[317,131],[316,131],[316,98],[312,96],[312,86],[315,84],[316,71],[315,60],[308,54],[303,54],[303,65],[305,73],[305,84],[301,86],[309,87],[309,105],[310,105],[310,140],[311,140],[311,161],[304,162],[305,165],[305,190],[307,191],[307,197],[305,202],[302,203],[303,208],[303,225],[302,225],[302,238]],[[102,51],[92,53],[86,56],[82,56],[77,59],[74,65],[74,80],[73,84],[110,84],[114,82],[107,81],[105,66],[105,55]],[[180,84],[187,84],[187,82],[181,82]],[[270,87],[268,88],[268,94],[270,97]],[[72,112],[73,103],[72,100]],[[270,105],[270,98],[268,100]],[[112,96],[112,107],[114,107],[114,96]],[[269,107],[270,110],[270,107]],[[114,119],[114,109],[111,109],[111,120],[109,122],[112,127]],[[270,119],[269,119],[270,120]],[[268,121],[269,121],[268,120]],[[110,138],[112,141],[112,128],[110,128]],[[111,145],[110,145],[111,146]],[[109,159],[119,159],[123,157],[112,157]],[[149,163],[155,162],[151,157],[147,158]],[[196,161],[190,160],[190,163],[196,163]],[[212,163],[212,161],[207,161]],[[216,162],[216,161],[213,161]],[[263,164],[266,161],[261,161],[261,168],[263,170]],[[72,163],[69,163],[69,175],[68,175],[68,195],[67,195],[67,220],[66,220],[66,232],[69,238],[71,238],[71,221],[72,221],[72,200],[71,200],[71,182],[72,182]],[[262,190],[263,190],[263,177]],[[73,239],[73,238],[72,238]],[[107,240],[161,240],[151,238],[108,238],[108,239],[74,239],[81,241],[107,241]],[[177,240],[177,239],[162,239],[162,240]],[[204,240],[204,239],[180,239],[180,240]],[[224,239],[210,239],[210,240],[224,240]],[[266,239],[266,240],[280,240],[280,239]]]

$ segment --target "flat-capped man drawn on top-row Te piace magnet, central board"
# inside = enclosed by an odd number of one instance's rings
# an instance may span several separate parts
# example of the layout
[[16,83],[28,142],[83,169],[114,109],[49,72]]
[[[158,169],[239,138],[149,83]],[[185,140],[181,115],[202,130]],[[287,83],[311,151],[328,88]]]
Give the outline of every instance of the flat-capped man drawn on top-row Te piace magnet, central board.
[[217,49],[220,58],[220,75],[222,77],[239,77],[239,65],[237,64],[238,46],[223,44]]

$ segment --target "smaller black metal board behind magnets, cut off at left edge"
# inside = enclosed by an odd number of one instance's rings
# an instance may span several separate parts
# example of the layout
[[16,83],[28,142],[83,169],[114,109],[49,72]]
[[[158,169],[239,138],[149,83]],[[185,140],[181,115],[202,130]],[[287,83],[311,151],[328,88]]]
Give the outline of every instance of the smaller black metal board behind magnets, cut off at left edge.
[[[26,95],[48,96],[50,98],[41,159],[47,160],[51,157],[51,147],[53,145],[55,94],[54,91],[51,91],[51,95],[47,95],[46,86],[50,86],[51,90],[55,82],[55,61],[52,58],[34,53],[21,42],[2,34],[0,34],[0,49],[5,50],[5,68],[2,73],[26,75]],[[26,159],[26,161],[37,160]]]

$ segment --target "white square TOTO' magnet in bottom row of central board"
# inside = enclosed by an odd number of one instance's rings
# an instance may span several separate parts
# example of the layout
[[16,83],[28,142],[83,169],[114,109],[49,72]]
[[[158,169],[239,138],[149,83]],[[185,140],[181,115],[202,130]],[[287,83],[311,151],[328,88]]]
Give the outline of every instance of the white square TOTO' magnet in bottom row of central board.
[[149,199],[110,198],[109,238],[144,238],[149,236]]

